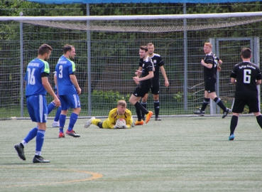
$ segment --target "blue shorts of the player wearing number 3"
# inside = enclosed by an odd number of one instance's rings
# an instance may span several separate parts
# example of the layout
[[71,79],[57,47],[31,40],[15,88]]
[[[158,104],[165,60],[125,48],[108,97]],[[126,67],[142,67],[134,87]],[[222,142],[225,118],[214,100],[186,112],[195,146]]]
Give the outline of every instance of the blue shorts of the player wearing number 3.
[[61,110],[68,110],[70,107],[72,109],[81,107],[80,99],[77,94],[74,95],[59,95],[61,102]]

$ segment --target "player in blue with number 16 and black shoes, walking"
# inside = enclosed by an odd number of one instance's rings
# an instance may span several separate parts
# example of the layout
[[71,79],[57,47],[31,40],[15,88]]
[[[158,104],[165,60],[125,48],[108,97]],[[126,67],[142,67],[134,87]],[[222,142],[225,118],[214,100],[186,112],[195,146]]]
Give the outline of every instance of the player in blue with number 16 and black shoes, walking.
[[16,144],[14,148],[18,156],[25,161],[26,156],[23,148],[36,137],[36,154],[33,158],[33,163],[50,162],[41,156],[41,149],[45,139],[45,123],[48,117],[48,107],[45,100],[46,92],[53,96],[56,106],[60,105],[60,100],[48,82],[50,69],[47,60],[51,55],[51,51],[52,48],[47,44],[40,46],[38,57],[31,60],[26,69],[26,104],[32,121],[37,122],[37,127],[31,129],[25,139],[20,144]]

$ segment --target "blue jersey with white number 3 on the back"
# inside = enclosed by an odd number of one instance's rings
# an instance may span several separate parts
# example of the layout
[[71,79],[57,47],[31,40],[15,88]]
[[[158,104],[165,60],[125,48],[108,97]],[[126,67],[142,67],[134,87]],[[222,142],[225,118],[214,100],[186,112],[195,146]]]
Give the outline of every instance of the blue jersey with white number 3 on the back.
[[58,60],[55,66],[56,77],[58,80],[58,94],[59,95],[72,95],[77,94],[75,85],[70,79],[70,75],[75,73],[75,63],[65,58],[64,55]]

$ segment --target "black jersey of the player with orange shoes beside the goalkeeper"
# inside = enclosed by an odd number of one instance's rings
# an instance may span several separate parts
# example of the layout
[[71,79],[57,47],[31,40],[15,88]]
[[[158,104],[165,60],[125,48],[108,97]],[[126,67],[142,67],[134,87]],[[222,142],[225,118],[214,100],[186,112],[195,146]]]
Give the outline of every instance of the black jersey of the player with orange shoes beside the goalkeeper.
[[[141,62],[141,60],[139,61],[139,65],[140,65],[140,62]],[[143,60],[143,64],[142,64],[141,67],[142,67],[141,78],[143,78],[143,77],[146,77],[149,74],[149,71],[153,71],[153,63],[152,63],[151,58],[147,57],[146,60]],[[141,80],[139,82],[138,86],[151,87],[151,79]]]

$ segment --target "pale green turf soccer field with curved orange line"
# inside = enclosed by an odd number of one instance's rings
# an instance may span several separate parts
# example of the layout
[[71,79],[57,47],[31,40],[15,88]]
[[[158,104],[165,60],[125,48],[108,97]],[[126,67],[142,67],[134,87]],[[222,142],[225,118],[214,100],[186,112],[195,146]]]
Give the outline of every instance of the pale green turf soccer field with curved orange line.
[[[255,117],[239,117],[229,141],[231,117],[169,117],[132,129],[84,128],[80,138],[48,130],[33,164],[35,139],[26,161],[13,146],[35,126],[31,120],[1,121],[0,191],[261,191],[262,132]],[[69,119],[66,121],[66,126]]]

